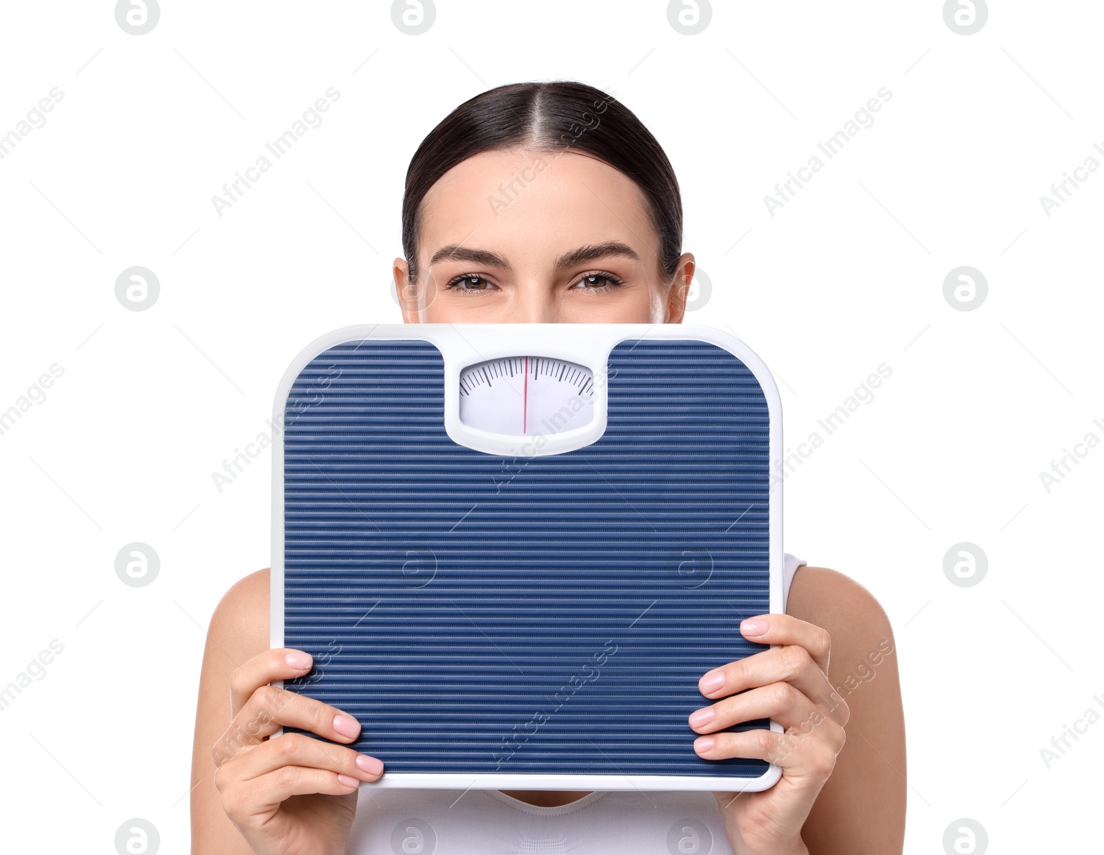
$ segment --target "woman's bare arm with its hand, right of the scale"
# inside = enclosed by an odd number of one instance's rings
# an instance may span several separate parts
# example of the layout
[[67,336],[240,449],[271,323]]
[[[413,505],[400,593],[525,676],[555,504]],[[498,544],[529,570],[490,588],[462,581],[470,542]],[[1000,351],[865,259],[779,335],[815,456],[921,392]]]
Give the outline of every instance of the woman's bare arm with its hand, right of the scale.
[[[824,568],[797,571],[787,614],[745,620],[773,645],[702,675],[690,716],[710,760],[782,768],[762,792],[714,795],[736,855],[893,855],[904,833],[904,721],[889,621],[870,593]],[[771,718],[784,733],[728,731]]]

